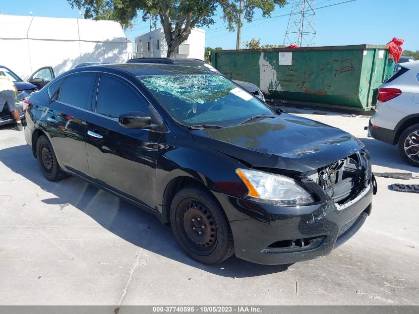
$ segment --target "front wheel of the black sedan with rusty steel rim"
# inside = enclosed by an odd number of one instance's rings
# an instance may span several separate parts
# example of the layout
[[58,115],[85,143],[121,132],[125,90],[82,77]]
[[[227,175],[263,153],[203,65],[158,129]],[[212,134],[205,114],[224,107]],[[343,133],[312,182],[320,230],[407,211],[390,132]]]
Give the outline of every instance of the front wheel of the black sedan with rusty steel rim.
[[194,260],[218,264],[234,254],[230,224],[208,191],[182,188],[172,200],[170,222],[180,247]]

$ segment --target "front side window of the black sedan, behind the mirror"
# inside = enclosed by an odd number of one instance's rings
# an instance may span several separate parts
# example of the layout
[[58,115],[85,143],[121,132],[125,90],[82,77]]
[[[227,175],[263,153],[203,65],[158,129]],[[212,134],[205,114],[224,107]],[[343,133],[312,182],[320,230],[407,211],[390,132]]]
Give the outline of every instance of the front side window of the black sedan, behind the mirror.
[[148,111],[147,102],[128,84],[102,75],[99,80],[96,112],[112,118],[131,111]]

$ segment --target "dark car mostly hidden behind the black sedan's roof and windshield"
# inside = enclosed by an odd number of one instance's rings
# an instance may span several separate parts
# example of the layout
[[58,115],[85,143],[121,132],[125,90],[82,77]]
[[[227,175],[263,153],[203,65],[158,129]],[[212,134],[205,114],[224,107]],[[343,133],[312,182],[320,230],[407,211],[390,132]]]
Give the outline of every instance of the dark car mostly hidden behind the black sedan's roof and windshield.
[[[135,58],[130,59],[127,63],[160,63],[160,64],[175,64],[175,65],[183,65],[183,66],[190,66],[194,68],[199,68],[205,71],[213,71],[218,74],[223,75],[220,73],[215,67],[211,64],[206,63],[205,61],[199,59],[192,59],[192,58],[185,58],[185,59],[178,59],[178,58]],[[257,98],[265,102],[265,96],[263,96],[262,91],[257,87],[255,84],[233,80],[237,85],[244,88],[248,92],[255,95]]]

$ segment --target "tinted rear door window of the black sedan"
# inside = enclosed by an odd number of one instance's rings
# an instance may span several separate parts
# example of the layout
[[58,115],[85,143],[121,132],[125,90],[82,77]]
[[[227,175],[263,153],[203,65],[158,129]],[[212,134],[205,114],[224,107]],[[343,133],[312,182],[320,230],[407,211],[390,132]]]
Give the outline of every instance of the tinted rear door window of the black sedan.
[[96,74],[68,76],[61,86],[60,102],[90,110]]

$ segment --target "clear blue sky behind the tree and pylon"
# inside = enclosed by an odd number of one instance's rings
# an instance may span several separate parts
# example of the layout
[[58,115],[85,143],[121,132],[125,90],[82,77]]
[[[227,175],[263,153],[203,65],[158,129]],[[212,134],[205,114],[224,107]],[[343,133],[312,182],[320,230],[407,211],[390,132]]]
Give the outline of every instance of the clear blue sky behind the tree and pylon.
[[[316,6],[335,4],[346,0],[316,0]],[[293,0],[289,0],[290,3]],[[417,18],[419,0],[400,1],[398,8],[394,0],[356,0],[316,11],[317,46],[354,45],[354,44],[386,44],[393,37],[403,38],[404,49],[419,50],[419,34]],[[291,4],[277,8],[272,16],[290,13]],[[81,17],[78,9],[71,9],[66,0],[1,0],[0,11],[10,15],[29,15],[32,11],[36,16],[48,17]],[[215,17],[216,24],[207,31],[205,46],[236,48],[236,33],[229,33],[221,15]],[[254,20],[260,19],[256,12]],[[260,19],[252,23],[244,23],[242,41],[252,37],[261,40],[261,44],[282,44],[287,28],[288,16],[271,19]],[[132,30],[125,34],[132,40],[149,30],[148,22],[141,18],[134,21]]]

